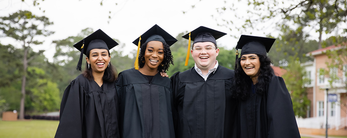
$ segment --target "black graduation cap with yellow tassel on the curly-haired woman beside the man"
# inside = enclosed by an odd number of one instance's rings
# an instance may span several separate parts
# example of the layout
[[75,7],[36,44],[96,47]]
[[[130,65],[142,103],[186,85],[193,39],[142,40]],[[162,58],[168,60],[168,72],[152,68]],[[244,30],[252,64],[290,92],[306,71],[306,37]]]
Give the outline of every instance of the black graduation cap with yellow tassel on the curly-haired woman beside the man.
[[158,25],[154,25],[152,28],[143,33],[140,37],[135,39],[133,43],[137,45],[137,55],[135,60],[135,69],[138,70],[138,54],[140,52],[140,46],[142,43],[146,43],[149,41],[160,41],[162,43],[167,43],[169,46],[173,45],[177,42],[177,39],[171,36],[164,29],[160,28]]

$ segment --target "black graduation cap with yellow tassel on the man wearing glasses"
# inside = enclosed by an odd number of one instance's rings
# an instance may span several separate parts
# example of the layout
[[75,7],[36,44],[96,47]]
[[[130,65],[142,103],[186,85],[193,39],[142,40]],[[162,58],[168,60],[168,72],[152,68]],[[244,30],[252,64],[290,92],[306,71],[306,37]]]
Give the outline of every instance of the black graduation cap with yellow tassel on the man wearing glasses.
[[189,59],[189,51],[191,49],[191,40],[194,41],[194,43],[197,42],[212,42],[215,46],[217,46],[216,40],[218,38],[221,38],[222,36],[226,35],[226,33],[213,30],[211,28],[207,28],[204,26],[200,26],[196,28],[195,30],[187,33],[186,35],[182,36],[185,39],[188,39],[188,51],[187,51],[187,57],[186,57],[186,63],[184,66],[188,65],[188,59]]

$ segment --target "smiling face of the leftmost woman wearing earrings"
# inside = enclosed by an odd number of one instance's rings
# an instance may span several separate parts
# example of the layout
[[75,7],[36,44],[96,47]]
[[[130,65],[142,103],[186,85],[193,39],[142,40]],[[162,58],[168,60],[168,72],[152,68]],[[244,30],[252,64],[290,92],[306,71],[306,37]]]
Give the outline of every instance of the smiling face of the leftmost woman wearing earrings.
[[111,56],[106,49],[92,49],[89,52],[89,58],[86,57],[87,62],[92,68],[92,73],[103,73],[110,62]]

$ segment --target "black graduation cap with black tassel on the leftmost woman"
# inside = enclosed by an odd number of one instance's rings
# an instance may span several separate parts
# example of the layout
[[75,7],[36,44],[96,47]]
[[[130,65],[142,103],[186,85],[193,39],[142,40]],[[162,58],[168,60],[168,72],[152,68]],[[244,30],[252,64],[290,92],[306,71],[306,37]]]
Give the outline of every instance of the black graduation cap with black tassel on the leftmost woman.
[[83,40],[77,42],[74,47],[81,51],[76,70],[82,71],[83,54],[87,56],[92,49],[107,49],[108,51],[117,46],[118,43],[104,33],[101,29],[96,30]]

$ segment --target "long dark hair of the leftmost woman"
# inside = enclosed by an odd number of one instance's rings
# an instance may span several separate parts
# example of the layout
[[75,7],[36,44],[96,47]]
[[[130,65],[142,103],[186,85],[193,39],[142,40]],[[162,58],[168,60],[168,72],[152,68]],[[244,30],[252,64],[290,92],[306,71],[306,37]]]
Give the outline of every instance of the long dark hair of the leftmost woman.
[[[108,50],[107,50],[108,51]],[[108,51],[110,55],[110,51]],[[89,58],[89,52],[87,54],[87,57]],[[110,67],[108,67],[108,63],[106,64],[107,67],[104,72],[104,76],[102,77],[103,81],[107,82],[113,82],[116,81],[117,79],[117,69],[115,66],[113,66],[110,62]],[[86,61],[86,66],[84,71],[82,72],[82,75],[86,77],[88,80],[94,80],[93,73],[92,73],[92,68],[88,68],[88,62]]]

